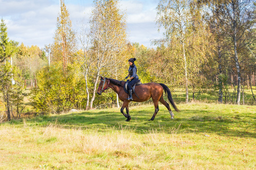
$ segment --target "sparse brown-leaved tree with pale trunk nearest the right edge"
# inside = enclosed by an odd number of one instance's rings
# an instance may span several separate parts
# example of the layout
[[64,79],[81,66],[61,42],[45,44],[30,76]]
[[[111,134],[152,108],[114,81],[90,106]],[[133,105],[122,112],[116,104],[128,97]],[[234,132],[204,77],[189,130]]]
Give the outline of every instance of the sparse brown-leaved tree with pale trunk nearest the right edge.
[[[246,31],[254,28],[253,12],[255,6],[251,0],[228,0],[220,4],[220,20],[222,29],[231,38],[233,44],[233,59],[237,71],[237,100],[240,104],[241,98],[241,66],[239,51],[244,48],[255,36],[247,36]],[[250,32],[250,31],[249,31]]]

